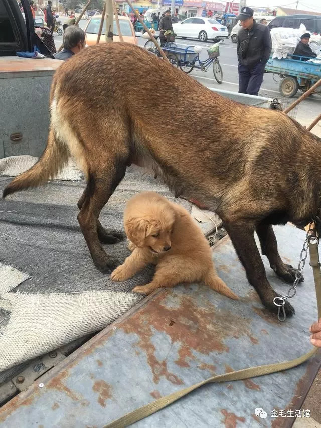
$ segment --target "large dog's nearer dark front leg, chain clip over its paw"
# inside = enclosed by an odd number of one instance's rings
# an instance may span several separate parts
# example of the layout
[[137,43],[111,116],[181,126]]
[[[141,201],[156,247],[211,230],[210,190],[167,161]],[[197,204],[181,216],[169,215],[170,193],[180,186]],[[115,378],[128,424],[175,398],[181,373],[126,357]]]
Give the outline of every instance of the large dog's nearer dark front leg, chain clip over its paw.
[[[263,305],[270,311],[277,313],[278,308],[274,305],[273,299],[279,295],[272,289],[266,278],[264,264],[254,239],[254,225],[247,222],[224,220],[223,223],[245,268],[249,283],[255,288]],[[289,302],[285,302],[284,308],[287,316],[291,316],[295,312]]]

